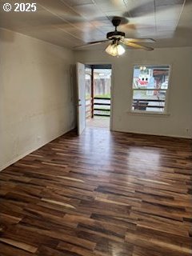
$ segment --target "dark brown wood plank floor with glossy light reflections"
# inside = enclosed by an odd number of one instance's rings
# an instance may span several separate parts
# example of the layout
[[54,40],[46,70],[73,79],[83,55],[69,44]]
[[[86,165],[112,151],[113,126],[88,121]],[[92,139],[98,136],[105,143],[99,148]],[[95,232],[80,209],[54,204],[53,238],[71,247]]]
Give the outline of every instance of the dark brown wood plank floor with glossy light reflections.
[[189,256],[191,141],[87,129],[0,173],[1,256]]

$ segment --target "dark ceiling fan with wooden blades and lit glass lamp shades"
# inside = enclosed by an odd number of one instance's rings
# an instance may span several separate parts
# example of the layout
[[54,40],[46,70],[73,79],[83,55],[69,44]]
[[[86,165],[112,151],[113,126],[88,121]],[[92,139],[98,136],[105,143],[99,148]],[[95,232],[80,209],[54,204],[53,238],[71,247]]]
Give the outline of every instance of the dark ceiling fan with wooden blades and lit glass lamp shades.
[[75,47],[82,48],[85,46],[94,46],[101,43],[110,42],[110,45],[106,47],[106,53],[112,56],[119,56],[125,53],[124,46],[130,46],[136,49],[142,50],[154,50],[152,47],[141,46],[138,42],[155,42],[152,38],[126,38],[126,34],[122,31],[118,31],[118,26],[121,24],[122,20],[120,17],[114,17],[112,19],[112,24],[115,27],[114,31],[106,34],[106,40],[88,42],[86,45]]

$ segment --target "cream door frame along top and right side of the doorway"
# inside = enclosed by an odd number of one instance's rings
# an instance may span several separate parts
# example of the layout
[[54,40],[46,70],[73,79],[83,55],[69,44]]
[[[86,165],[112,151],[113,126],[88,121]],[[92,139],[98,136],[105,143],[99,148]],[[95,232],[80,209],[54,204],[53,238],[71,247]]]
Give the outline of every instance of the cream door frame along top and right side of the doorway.
[[111,85],[110,85],[110,130],[113,130],[114,120],[114,64],[111,62],[86,62],[86,65],[110,65],[111,66]]

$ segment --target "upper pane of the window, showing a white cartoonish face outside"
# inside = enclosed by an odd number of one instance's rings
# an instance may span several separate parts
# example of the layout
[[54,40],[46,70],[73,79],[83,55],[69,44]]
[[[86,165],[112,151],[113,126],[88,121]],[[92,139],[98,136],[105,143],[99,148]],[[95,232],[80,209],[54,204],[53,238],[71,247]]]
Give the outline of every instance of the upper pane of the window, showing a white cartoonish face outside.
[[134,89],[168,89],[170,66],[134,66]]

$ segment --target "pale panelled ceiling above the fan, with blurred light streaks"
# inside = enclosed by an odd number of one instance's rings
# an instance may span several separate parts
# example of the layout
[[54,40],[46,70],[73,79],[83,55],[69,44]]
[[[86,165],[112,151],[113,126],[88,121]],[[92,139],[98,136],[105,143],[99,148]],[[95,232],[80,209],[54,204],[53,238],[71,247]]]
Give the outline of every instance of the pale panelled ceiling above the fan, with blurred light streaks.
[[[23,0],[9,0],[27,2]],[[129,38],[154,38],[146,46],[192,46],[192,0],[34,0],[36,12],[5,12],[0,0],[0,27],[58,46],[73,48],[105,40],[110,20],[123,17],[118,30]],[[125,22],[126,21],[126,22]],[[90,47],[86,47],[90,50]],[[94,49],[94,46],[91,46]],[[85,48],[83,48],[85,50]]]

